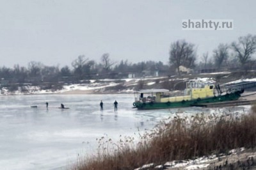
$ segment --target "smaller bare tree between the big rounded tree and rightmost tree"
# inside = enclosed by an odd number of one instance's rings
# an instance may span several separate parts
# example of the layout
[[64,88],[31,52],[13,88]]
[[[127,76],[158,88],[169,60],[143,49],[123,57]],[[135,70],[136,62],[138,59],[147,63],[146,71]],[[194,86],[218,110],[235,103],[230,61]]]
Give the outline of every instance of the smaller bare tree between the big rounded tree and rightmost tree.
[[228,59],[228,45],[220,43],[218,48],[213,50],[213,58],[215,65],[218,67],[218,70],[220,70],[223,62],[227,61]]

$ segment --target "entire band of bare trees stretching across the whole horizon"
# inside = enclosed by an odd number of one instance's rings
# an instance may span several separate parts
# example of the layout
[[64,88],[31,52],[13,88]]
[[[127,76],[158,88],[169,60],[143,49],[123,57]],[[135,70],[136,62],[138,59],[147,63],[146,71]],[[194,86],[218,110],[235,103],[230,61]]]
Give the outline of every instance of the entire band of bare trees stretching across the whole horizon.
[[[40,82],[40,81],[81,81],[86,79],[125,78],[128,74],[136,77],[146,75],[180,75],[180,66],[194,68],[195,72],[202,70],[220,71],[223,67],[229,69],[240,69],[247,71],[255,66],[253,54],[256,52],[256,36],[246,35],[238,38],[237,42],[231,44],[220,43],[216,49],[202,54],[200,58],[196,55],[196,46],[186,40],[177,40],[171,43],[169,51],[169,63],[164,65],[161,61],[142,61],[129,63],[111,60],[108,53],[102,54],[99,63],[93,59],[81,55],[72,61],[71,66],[45,66],[40,62],[31,61],[28,66],[15,65],[13,68],[0,67],[0,79],[12,82]],[[196,64],[196,59],[200,63]]]

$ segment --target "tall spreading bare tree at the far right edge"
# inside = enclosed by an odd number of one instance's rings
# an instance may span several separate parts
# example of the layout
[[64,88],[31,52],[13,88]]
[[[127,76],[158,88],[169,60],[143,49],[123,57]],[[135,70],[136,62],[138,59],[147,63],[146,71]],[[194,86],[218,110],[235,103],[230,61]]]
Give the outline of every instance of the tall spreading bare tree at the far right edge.
[[256,36],[250,34],[240,36],[238,42],[233,42],[231,46],[235,52],[235,57],[239,59],[242,68],[246,70],[246,64],[250,61],[252,54],[256,51]]

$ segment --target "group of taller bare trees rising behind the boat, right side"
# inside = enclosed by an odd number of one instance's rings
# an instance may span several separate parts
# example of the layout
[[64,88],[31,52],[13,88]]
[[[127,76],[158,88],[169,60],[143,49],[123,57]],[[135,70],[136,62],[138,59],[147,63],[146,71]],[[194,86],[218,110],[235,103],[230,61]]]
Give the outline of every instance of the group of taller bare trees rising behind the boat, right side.
[[220,43],[216,49],[212,51],[212,57],[209,53],[202,54],[201,61],[198,65],[196,61],[195,44],[186,42],[186,40],[177,40],[170,46],[170,65],[173,66],[180,75],[180,66],[186,68],[202,68],[204,70],[214,68],[221,70],[225,66],[230,69],[239,69],[248,71],[255,66],[253,54],[256,51],[256,36],[246,35],[238,38],[237,42]]

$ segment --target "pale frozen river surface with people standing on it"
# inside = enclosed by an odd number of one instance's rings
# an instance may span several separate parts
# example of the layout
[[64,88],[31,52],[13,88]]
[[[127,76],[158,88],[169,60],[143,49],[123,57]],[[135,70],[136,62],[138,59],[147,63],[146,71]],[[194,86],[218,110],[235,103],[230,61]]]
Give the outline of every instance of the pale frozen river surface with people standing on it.
[[[152,128],[159,120],[216,109],[189,107],[138,111],[132,109],[133,95],[20,95],[0,97],[1,169],[65,169],[77,155],[93,153],[96,138],[134,135]],[[104,102],[100,112],[99,102]],[[118,102],[114,112],[113,102]],[[45,102],[49,102],[46,109]],[[58,109],[60,104],[70,109]],[[38,108],[31,108],[38,105]],[[246,112],[250,106],[229,108]],[[227,110],[227,109],[226,109]],[[218,109],[218,112],[220,109]],[[183,113],[183,114],[184,114]]]

